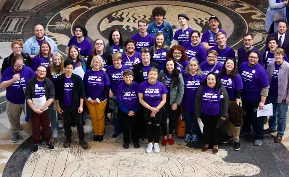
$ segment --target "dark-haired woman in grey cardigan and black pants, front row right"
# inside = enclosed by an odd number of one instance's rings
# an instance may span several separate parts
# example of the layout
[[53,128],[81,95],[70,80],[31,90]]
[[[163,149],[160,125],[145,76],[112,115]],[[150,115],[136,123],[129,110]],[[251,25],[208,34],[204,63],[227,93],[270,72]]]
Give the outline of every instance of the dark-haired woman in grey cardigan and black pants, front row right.
[[228,117],[228,93],[216,73],[210,72],[196,94],[196,116],[204,123],[203,138],[207,151],[213,144],[213,153],[219,151],[218,144],[222,125]]

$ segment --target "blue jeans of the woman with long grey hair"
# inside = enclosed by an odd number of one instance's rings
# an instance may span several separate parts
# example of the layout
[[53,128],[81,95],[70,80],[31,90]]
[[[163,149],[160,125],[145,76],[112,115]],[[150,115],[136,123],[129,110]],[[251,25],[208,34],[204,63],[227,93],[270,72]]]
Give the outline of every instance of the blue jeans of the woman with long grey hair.
[[185,123],[186,123],[186,134],[191,134],[191,127],[193,122],[193,135],[198,135],[200,132],[200,127],[198,124],[198,119],[196,117],[196,114],[194,112],[185,111]]

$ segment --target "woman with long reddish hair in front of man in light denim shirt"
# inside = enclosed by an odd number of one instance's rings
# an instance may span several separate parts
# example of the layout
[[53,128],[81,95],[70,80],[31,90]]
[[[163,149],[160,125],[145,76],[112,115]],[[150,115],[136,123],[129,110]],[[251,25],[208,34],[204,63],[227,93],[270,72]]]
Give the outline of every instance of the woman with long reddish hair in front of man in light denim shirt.
[[48,65],[51,62],[53,54],[51,53],[51,47],[46,41],[42,41],[40,44],[40,50],[38,55],[35,55],[35,57],[32,60],[31,69],[33,71],[36,71],[36,68],[39,65],[43,65],[45,67],[48,67]]

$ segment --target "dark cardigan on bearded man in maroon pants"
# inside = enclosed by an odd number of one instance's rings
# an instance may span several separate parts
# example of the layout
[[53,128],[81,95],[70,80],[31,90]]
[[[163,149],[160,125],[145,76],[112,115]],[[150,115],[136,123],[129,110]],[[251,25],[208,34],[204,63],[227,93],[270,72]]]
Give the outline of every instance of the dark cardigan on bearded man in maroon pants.
[[[26,100],[32,100],[32,98],[35,98],[35,84],[36,84],[36,77],[33,77],[30,79],[26,84],[25,89],[25,99]],[[50,79],[47,77],[44,79],[44,89],[45,89],[45,97],[46,101],[50,98],[55,98],[55,91],[54,91],[54,85]],[[30,108],[28,104],[26,104],[26,110],[28,117],[33,117],[33,110]],[[49,105],[48,110],[48,117],[52,117],[53,114],[53,104]]]

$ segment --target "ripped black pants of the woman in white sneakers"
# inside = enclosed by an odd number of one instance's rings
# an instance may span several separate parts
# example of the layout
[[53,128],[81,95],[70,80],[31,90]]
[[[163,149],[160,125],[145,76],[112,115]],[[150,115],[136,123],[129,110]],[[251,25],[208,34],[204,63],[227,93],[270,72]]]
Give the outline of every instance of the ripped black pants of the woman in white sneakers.
[[[142,112],[144,114],[144,119],[147,123],[146,125],[146,134],[148,142],[151,143],[154,139],[155,143],[158,143],[160,140],[160,119],[163,114],[163,108],[159,110],[155,117],[151,117],[151,110],[142,107]],[[150,124],[149,124],[150,123]]]

